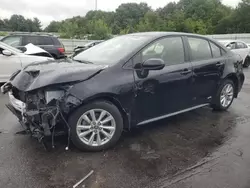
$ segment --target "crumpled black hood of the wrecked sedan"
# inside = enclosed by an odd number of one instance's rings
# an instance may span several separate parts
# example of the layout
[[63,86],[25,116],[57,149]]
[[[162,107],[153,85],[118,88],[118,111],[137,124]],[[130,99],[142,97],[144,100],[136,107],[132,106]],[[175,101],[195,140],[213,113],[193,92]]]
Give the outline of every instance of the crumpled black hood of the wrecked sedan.
[[18,73],[11,84],[21,91],[49,85],[84,81],[107,68],[106,65],[84,64],[64,59],[32,63]]

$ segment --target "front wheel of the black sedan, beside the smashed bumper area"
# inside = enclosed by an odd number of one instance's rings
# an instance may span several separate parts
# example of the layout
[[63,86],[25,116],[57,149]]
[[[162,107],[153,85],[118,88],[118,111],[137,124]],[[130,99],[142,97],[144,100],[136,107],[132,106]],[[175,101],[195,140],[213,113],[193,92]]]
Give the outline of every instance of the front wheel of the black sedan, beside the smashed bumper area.
[[71,140],[80,150],[102,151],[120,138],[123,118],[118,108],[107,101],[96,101],[78,108],[69,117]]

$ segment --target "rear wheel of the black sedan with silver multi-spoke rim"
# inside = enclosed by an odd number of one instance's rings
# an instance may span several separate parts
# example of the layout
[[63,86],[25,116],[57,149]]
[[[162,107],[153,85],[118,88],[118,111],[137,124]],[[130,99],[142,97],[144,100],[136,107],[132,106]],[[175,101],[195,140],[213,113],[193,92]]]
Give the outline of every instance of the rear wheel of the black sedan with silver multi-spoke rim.
[[235,86],[232,80],[224,80],[217,90],[212,108],[214,110],[227,110],[234,100]]

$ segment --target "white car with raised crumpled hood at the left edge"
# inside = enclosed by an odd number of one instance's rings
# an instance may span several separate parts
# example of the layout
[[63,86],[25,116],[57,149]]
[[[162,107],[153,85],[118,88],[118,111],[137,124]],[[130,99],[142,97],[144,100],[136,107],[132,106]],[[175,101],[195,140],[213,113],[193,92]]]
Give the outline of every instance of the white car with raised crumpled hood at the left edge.
[[25,52],[0,42],[0,82],[9,80],[12,73],[33,62],[52,60],[53,57],[45,50],[28,44]]

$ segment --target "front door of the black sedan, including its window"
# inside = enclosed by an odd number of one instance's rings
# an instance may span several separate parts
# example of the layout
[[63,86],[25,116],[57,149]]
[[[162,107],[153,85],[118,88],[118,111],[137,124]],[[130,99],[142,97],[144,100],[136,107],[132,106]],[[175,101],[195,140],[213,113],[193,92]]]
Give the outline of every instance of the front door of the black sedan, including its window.
[[[186,62],[182,37],[166,37],[144,48],[133,59],[136,86],[134,113],[137,123],[160,118],[192,106],[192,66]],[[143,70],[140,64],[161,58],[162,70]]]

